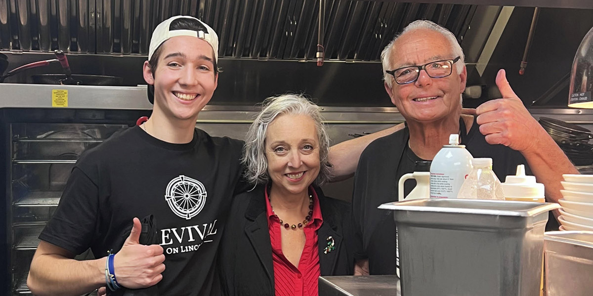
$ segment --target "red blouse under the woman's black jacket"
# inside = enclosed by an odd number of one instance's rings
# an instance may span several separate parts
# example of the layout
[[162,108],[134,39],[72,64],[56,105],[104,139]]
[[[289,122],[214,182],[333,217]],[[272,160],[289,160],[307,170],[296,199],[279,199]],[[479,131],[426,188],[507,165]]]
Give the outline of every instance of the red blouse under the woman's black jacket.
[[[298,268],[286,259],[282,253],[282,234],[280,234],[280,220],[272,212],[272,206],[266,189],[267,224],[272,243],[272,260],[274,265],[274,289],[276,296],[317,296],[319,269],[319,249],[317,245],[317,230],[323,223],[319,200],[312,186],[313,192],[313,221],[303,227],[305,232],[305,247],[302,250]],[[282,226],[283,227],[283,226]]]

